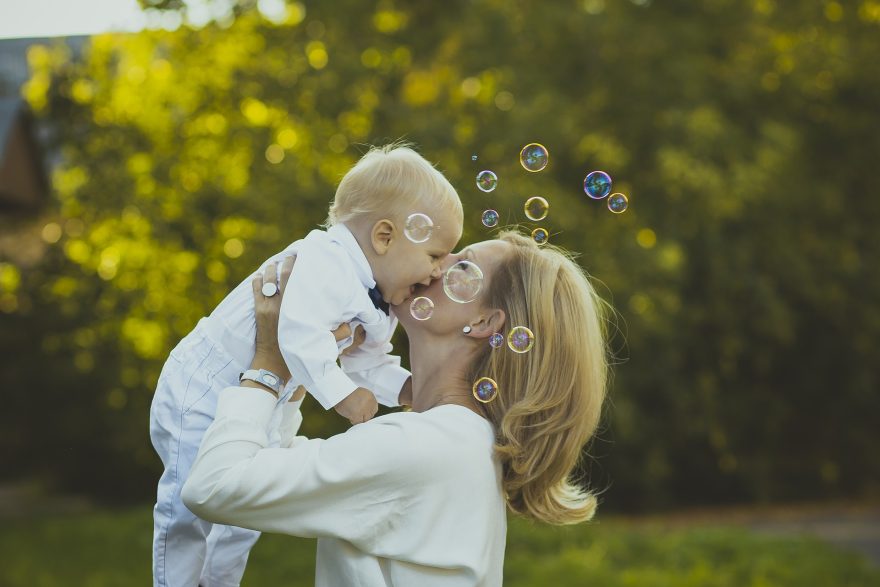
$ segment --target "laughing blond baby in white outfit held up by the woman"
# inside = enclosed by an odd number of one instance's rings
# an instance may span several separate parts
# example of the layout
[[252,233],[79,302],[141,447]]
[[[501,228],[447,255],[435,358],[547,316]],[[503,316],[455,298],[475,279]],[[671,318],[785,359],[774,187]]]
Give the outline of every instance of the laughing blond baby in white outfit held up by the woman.
[[[263,265],[296,255],[278,324],[290,381],[246,370],[256,332],[251,276],[171,351],[150,410],[150,438],[165,466],[153,512],[154,585],[238,585],[259,537],[201,520],[180,500],[220,390],[241,378],[276,392],[272,446],[279,445],[277,424],[298,385],[352,423],[372,418],[377,400],[398,405],[410,375],[388,354],[397,326],[389,305],[440,277],[462,220],[458,194],[430,163],[405,146],[373,148],[342,178],[327,230],[312,231]],[[270,283],[263,294],[276,291]],[[341,355],[353,336],[337,342],[331,331],[343,323],[352,333],[361,326],[366,337]]]

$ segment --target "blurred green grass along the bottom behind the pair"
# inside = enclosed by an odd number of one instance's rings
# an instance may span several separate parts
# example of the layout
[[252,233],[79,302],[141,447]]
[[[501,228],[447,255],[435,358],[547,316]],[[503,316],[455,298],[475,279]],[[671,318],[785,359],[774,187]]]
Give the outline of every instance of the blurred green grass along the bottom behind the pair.
[[[150,584],[149,507],[5,520],[0,585]],[[314,583],[313,541],[264,535],[243,585]],[[730,527],[670,530],[603,520],[569,528],[511,520],[505,585],[601,587],[869,587],[880,570],[817,539]]]

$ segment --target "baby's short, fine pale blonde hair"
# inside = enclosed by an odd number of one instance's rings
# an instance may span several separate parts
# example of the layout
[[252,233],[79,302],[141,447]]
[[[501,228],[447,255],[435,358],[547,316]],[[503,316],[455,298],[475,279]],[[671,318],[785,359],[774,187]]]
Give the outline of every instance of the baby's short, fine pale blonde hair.
[[394,142],[370,150],[339,182],[326,227],[355,218],[449,210],[464,217],[452,184],[408,143]]

